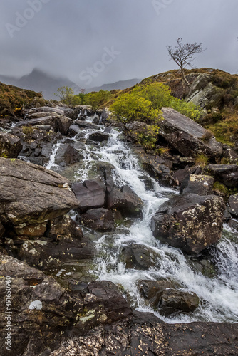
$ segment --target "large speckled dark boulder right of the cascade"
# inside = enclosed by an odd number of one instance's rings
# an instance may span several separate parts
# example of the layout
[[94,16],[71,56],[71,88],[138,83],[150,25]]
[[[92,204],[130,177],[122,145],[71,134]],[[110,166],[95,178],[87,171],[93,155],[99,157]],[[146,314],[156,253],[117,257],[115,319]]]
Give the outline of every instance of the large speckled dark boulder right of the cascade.
[[200,253],[220,239],[224,209],[221,197],[182,194],[162,204],[152,217],[153,235],[186,253]]

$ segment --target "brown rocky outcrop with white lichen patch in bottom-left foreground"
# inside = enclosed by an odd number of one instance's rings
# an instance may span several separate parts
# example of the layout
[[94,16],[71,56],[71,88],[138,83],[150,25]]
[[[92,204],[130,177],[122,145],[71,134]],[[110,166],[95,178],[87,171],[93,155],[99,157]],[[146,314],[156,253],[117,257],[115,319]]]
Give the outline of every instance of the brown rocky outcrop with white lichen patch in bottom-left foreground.
[[[6,295],[6,276],[11,286],[11,355],[40,355],[47,348],[54,350],[70,330],[86,333],[92,326],[115,323],[131,313],[125,298],[111,282],[71,281],[71,288],[66,291],[53,277],[1,254],[0,273],[2,301]],[[6,335],[6,304],[1,303],[3,356],[9,355]]]

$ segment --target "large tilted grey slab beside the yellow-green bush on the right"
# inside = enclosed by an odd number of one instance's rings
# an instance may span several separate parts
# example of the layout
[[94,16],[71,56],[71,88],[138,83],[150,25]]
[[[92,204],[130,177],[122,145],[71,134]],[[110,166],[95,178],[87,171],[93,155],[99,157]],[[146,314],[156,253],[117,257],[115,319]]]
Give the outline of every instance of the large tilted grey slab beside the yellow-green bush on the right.
[[222,145],[207,130],[189,117],[171,108],[162,108],[164,120],[160,122],[160,135],[170,142],[185,157],[196,157],[201,153],[210,157],[222,155]]

